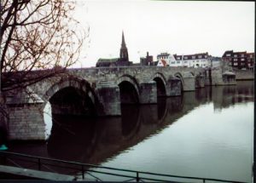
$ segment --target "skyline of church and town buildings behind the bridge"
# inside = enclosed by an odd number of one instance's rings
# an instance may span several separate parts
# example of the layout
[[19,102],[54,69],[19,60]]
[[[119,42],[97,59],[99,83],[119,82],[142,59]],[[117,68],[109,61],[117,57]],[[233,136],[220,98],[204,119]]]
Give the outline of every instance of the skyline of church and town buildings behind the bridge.
[[254,53],[247,53],[247,51],[234,52],[227,50],[220,56],[212,56],[205,53],[198,54],[157,54],[154,61],[153,55],[140,58],[140,63],[133,63],[129,60],[128,49],[125,44],[124,32],[122,32],[122,43],[119,58],[104,58],[97,60],[96,67],[108,66],[181,66],[193,68],[216,68],[222,63],[232,67],[235,70],[253,70],[254,67]]

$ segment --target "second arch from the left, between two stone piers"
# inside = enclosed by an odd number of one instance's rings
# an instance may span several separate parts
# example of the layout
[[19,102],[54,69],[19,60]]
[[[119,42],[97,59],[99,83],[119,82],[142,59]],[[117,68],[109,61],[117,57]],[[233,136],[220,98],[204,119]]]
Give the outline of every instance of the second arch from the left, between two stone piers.
[[135,77],[123,75],[117,79],[116,83],[119,85],[121,103],[139,103],[139,85]]

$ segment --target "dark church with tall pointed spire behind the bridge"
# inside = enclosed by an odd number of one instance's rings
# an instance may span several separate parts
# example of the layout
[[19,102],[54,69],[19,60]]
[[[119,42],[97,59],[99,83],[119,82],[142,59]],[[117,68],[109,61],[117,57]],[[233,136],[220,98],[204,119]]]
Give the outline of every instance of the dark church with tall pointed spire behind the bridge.
[[125,44],[124,31],[122,32],[122,43],[119,58],[113,59],[99,59],[97,60],[96,67],[103,66],[131,66],[132,62],[129,61],[128,49]]

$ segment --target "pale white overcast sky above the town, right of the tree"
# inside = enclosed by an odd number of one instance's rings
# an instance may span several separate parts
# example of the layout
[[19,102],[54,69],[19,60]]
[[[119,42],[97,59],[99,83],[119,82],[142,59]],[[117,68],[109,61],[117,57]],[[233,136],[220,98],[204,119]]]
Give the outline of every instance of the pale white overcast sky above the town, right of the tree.
[[118,58],[122,31],[133,62],[147,51],[154,60],[161,52],[222,56],[231,49],[254,51],[253,2],[78,1],[74,16],[90,26],[79,66]]

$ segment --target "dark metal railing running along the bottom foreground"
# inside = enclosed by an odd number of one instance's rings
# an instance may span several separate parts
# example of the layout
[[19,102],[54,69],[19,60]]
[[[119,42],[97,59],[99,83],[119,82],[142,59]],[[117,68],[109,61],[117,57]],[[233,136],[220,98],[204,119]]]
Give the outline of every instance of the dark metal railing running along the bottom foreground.
[[[65,172],[65,174],[75,175],[77,177],[77,180],[79,180],[79,178],[84,180],[85,176],[87,176],[86,178],[90,176],[96,181],[102,181],[102,179],[99,178],[99,174],[105,174],[105,175],[112,175],[115,177],[123,177],[127,179],[122,181],[137,181],[137,182],[145,181],[145,180],[146,181],[169,181],[169,182],[170,181],[184,182],[184,180],[187,180],[187,181],[196,180],[196,182],[217,181],[217,182],[242,183],[241,181],[234,181],[234,180],[218,180],[218,179],[211,179],[211,178],[178,176],[178,175],[172,175],[172,174],[155,174],[150,172],[135,171],[135,170],[129,170],[129,169],[115,169],[115,168],[98,166],[98,165],[89,164],[89,163],[69,162],[69,161],[60,160],[60,159],[54,159],[49,157],[36,157],[36,156],[25,155],[25,154],[20,154],[15,152],[0,151],[0,160],[1,158],[3,158],[5,161],[5,163],[2,163],[3,165],[7,165],[7,163],[12,163],[16,167],[20,167],[24,169],[33,168],[41,171],[47,170],[48,172],[50,171],[55,173]],[[15,161],[25,162],[26,167],[20,166],[20,164],[16,163]],[[28,163],[32,163],[32,164],[28,164]],[[73,171],[67,173],[67,169],[71,169]],[[177,180],[177,178],[182,180]],[[109,181],[109,180],[104,180],[104,181]]]

